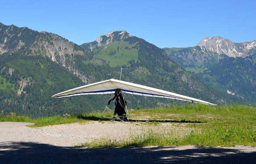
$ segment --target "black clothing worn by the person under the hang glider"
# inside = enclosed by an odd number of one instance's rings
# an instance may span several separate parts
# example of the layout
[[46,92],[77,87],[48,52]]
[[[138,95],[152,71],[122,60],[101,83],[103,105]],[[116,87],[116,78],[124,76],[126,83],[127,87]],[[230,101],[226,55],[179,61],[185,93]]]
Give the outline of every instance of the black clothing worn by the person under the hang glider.
[[[112,102],[114,99],[116,99],[116,102],[115,102],[115,111],[114,113],[117,113],[117,115],[120,117],[120,116],[123,116],[123,115],[126,115],[126,112],[125,112],[125,106],[126,106],[126,100],[123,98],[123,95],[120,93],[118,95],[115,95],[112,99],[109,100],[109,104],[110,102]],[[122,117],[120,117],[120,119],[123,119]]]

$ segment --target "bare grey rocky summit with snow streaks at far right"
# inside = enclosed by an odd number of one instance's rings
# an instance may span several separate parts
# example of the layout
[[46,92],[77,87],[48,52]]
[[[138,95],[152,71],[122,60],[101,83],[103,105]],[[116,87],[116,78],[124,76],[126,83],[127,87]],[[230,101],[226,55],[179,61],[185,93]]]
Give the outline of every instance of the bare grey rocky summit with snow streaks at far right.
[[256,41],[234,43],[222,37],[206,37],[197,44],[203,52],[212,51],[229,57],[246,57],[249,50],[256,47]]

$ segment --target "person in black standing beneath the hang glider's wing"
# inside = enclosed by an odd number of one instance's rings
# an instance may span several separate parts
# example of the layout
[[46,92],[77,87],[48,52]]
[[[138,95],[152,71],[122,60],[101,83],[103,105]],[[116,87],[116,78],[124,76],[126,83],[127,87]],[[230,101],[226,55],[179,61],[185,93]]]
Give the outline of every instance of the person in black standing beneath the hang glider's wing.
[[110,120],[110,121],[115,121],[116,120],[116,115],[118,115],[121,119],[121,122],[124,122],[124,116],[126,115],[126,112],[125,112],[124,108],[125,108],[127,102],[123,98],[123,95],[122,95],[120,89],[115,89],[114,94],[115,94],[114,97],[112,99],[110,99],[109,103],[107,104],[107,105],[109,105],[110,102],[112,102],[114,99],[116,99],[113,119]]

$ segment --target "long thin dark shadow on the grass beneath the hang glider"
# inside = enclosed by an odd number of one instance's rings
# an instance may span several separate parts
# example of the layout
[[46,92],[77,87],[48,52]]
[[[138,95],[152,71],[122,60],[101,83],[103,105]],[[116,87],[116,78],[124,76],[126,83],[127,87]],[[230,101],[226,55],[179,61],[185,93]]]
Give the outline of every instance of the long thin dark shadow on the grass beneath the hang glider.
[[[77,118],[83,119],[83,120],[93,120],[93,121],[109,121],[109,118],[106,117],[95,117],[95,116],[83,116],[78,115]],[[120,121],[119,119],[116,119],[116,121]],[[172,123],[206,123],[203,121],[190,121],[190,120],[135,120],[135,119],[129,119],[128,122],[172,122]]]

